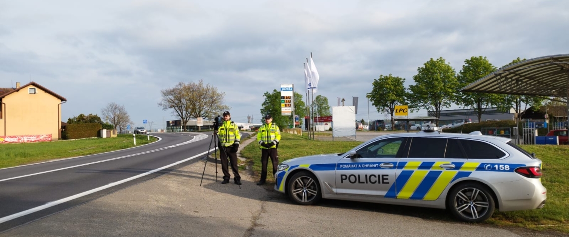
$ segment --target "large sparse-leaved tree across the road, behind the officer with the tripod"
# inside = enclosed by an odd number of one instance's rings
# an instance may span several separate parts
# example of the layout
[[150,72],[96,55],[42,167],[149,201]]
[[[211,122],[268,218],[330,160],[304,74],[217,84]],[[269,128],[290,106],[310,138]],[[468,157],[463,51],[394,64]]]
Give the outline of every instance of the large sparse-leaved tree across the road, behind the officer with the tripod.
[[229,106],[223,104],[225,93],[218,92],[209,84],[204,85],[203,80],[188,84],[179,82],[174,88],[161,90],[160,93],[162,99],[158,106],[164,111],[172,109],[172,115],[182,120],[184,130],[190,118],[213,119],[222,111],[229,110]]

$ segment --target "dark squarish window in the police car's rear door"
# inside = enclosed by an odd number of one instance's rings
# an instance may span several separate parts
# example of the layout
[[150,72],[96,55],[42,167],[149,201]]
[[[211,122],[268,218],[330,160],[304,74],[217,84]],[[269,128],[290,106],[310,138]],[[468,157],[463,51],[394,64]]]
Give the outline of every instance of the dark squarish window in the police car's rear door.
[[446,138],[413,138],[409,158],[443,158]]

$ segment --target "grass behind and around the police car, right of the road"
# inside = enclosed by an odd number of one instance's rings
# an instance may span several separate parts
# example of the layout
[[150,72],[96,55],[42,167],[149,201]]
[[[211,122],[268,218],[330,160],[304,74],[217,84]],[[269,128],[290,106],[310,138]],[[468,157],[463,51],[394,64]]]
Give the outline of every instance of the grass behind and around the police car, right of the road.
[[[308,140],[307,136],[282,133],[279,145],[279,160],[323,153],[343,153],[361,142],[327,142]],[[316,134],[318,135],[318,133]],[[569,233],[569,146],[567,145],[522,145],[526,151],[535,152],[543,161],[542,184],[547,188],[547,203],[543,209],[524,211],[496,211],[486,223],[500,227],[524,227],[537,231]],[[256,142],[250,143],[241,156],[251,160],[253,172],[261,173],[261,151]],[[269,172],[271,171],[269,162]],[[269,175],[267,181],[274,182]],[[404,207],[403,207],[404,208]],[[397,209],[398,210],[398,209]],[[416,209],[412,209],[413,212]],[[438,209],[421,209],[421,217],[447,219]]]

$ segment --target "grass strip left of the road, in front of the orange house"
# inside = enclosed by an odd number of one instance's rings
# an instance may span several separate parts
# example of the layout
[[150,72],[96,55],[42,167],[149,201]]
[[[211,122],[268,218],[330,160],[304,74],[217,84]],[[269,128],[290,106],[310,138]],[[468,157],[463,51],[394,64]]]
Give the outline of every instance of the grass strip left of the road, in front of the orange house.
[[[137,135],[137,145],[155,142],[156,138]],[[0,168],[38,163],[46,160],[85,156],[134,147],[132,134],[118,134],[116,138],[61,140],[59,142],[1,144]]]

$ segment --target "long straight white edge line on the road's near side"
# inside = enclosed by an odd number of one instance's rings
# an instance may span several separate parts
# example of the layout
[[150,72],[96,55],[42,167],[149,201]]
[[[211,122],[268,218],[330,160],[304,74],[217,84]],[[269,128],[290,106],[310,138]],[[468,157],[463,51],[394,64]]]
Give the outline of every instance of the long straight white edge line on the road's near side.
[[178,162],[176,162],[176,163],[172,163],[172,164],[166,165],[166,166],[164,166],[164,167],[160,167],[160,168],[158,168],[158,169],[154,169],[154,170],[149,171],[149,172],[146,172],[146,173],[138,174],[137,176],[133,176],[133,177],[130,177],[130,178],[125,178],[124,180],[120,180],[120,181],[117,181],[117,182],[112,182],[112,183],[110,183],[110,184],[108,184],[108,185],[100,186],[99,188],[96,188],[96,189],[91,189],[91,190],[85,191],[85,192],[83,192],[83,193],[79,193],[79,194],[75,194],[75,195],[73,195],[73,196],[69,196],[69,197],[66,197],[66,198],[59,199],[59,200],[57,200],[57,201],[48,202],[48,203],[46,203],[46,204],[44,204],[44,205],[42,205],[42,206],[37,206],[37,207],[34,207],[34,208],[32,208],[32,209],[28,209],[28,210],[25,210],[25,211],[20,211],[19,213],[15,213],[15,214],[8,215],[8,216],[6,216],[6,217],[2,217],[2,218],[0,218],[0,223],[7,222],[7,221],[10,221],[10,220],[15,219],[15,218],[18,218],[18,217],[23,217],[24,215],[32,214],[32,213],[35,213],[36,211],[41,211],[41,210],[50,208],[50,207],[52,207],[52,206],[55,206],[55,205],[58,205],[58,204],[61,204],[61,203],[65,203],[65,202],[71,201],[71,200],[76,199],[76,198],[80,198],[80,197],[83,197],[83,196],[87,196],[87,195],[89,195],[89,194],[96,193],[96,192],[99,192],[99,191],[101,191],[101,190],[105,190],[105,189],[111,188],[111,187],[113,187],[113,186],[117,186],[117,185],[119,185],[119,184],[123,184],[123,183],[125,183],[125,182],[131,181],[131,180],[135,180],[135,179],[140,178],[140,177],[143,177],[143,176],[147,176],[147,175],[149,175],[149,174],[151,174],[151,173],[155,173],[155,172],[158,172],[158,171],[162,171],[163,169],[170,168],[170,167],[172,167],[172,166],[174,166],[174,165],[177,165],[177,164],[180,164],[180,163],[184,163],[185,161],[192,160],[192,159],[195,159],[196,157],[200,157],[200,156],[202,156],[202,155],[205,155],[205,154],[207,154],[207,153],[209,153],[209,152],[211,152],[211,151],[215,151],[215,149],[216,149],[216,148],[210,149],[209,151],[205,151],[205,152],[199,153],[199,154],[197,154],[197,155],[195,155],[195,156],[189,157],[189,158],[184,159],[184,160],[180,160],[180,161],[178,161]]

